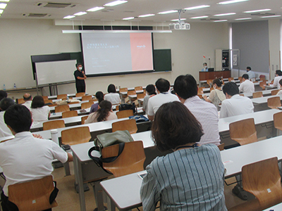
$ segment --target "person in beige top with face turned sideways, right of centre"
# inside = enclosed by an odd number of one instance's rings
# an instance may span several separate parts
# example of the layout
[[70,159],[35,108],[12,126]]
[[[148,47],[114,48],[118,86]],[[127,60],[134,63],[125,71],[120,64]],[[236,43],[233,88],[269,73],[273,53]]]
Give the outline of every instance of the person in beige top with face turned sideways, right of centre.
[[209,97],[203,96],[203,98],[205,101],[214,104],[217,110],[220,110],[219,104],[226,99],[226,96],[223,94],[221,89],[222,81],[221,79],[216,78],[212,81],[212,84],[214,86],[214,90],[211,91]]

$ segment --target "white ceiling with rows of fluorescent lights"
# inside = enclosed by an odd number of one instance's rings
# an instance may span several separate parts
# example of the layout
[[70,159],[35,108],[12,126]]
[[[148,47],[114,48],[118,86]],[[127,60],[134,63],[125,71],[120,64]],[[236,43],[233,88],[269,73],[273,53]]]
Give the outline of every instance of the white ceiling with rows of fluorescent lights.
[[[1,0],[0,0],[1,1]],[[52,0],[52,1],[37,1],[37,0],[10,0],[7,3],[4,12],[1,14],[0,20],[4,18],[21,18],[21,19],[51,19],[63,20],[67,15],[73,15],[80,11],[87,11],[87,9],[95,6],[103,6],[114,0]],[[220,1],[220,0],[219,0]],[[261,18],[264,13],[273,13],[275,15],[282,15],[282,1],[281,0],[250,0],[235,4],[219,5],[216,0],[128,0],[127,3],[118,6],[108,6],[101,11],[87,12],[86,15],[75,16],[71,20],[110,20],[120,21],[123,18],[138,17],[138,15],[145,15],[148,13],[156,14],[147,18],[135,18],[136,21],[154,21],[171,23],[172,19],[178,18],[178,13],[170,13],[166,15],[157,14],[163,11],[179,10],[199,5],[209,5],[208,8],[200,8],[197,10],[185,11],[180,13],[181,18],[187,18],[185,22],[211,22],[213,19],[228,20],[228,22],[236,22],[242,20],[234,20],[236,18],[252,18],[251,20],[267,20],[269,18]],[[47,3],[71,4],[66,8],[44,8]],[[271,11],[262,12],[261,14],[243,13],[243,11],[254,11],[259,9],[269,8]],[[47,14],[44,17],[28,17],[30,13]],[[214,15],[220,13],[236,13],[235,15],[215,17]],[[204,20],[190,19],[196,16],[207,15],[208,18]],[[35,15],[37,16],[37,15]],[[265,16],[265,15],[264,15]],[[278,17],[281,19],[281,17]],[[211,20],[212,19],[212,20]],[[133,21],[134,21],[133,20]],[[123,20],[130,21],[130,20]],[[131,20],[132,21],[132,20]]]

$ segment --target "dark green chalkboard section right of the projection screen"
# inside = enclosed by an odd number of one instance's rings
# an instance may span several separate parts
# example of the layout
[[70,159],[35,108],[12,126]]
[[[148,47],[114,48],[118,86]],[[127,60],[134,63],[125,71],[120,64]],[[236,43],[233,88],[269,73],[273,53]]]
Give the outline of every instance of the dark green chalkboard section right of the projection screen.
[[154,70],[171,71],[171,49],[154,49]]

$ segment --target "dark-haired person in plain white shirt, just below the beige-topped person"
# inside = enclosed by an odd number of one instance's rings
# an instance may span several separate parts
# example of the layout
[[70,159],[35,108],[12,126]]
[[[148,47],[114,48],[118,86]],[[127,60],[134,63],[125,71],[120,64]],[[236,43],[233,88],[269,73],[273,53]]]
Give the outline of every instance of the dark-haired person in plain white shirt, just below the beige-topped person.
[[254,112],[252,101],[250,98],[239,95],[239,89],[234,82],[225,84],[223,93],[226,96],[226,100],[221,104],[220,118]]

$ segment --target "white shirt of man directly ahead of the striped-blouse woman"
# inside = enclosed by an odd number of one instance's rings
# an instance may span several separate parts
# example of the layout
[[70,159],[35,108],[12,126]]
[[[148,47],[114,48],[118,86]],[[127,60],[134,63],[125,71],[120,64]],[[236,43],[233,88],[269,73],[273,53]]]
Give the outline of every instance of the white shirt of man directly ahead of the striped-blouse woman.
[[202,124],[204,135],[199,143],[214,143],[219,145],[219,115],[216,106],[201,100],[198,96],[186,99],[184,105]]

